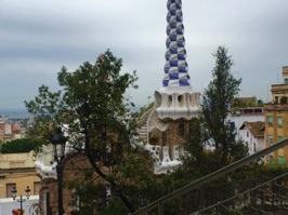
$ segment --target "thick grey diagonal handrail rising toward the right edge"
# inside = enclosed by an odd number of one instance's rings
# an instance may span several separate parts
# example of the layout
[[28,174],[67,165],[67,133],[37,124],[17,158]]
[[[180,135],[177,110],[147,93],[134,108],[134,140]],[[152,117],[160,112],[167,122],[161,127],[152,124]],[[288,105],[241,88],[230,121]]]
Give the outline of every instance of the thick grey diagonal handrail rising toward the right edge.
[[254,161],[256,159],[259,159],[261,157],[264,157],[273,151],[276,151],[280,148],[284,148],[285,146],[288,146],[288,138],[286,139],[283,139],[276,144],[273,144],[272,146],[267,147],[267,148],[264,148],[251,156],[248,156],[246,158],[243,158],[238,161],[235,161],[234,163],[231,163],[228,164],[227,166],[225,167],[222,167],[213,173],[210,173],[209,175],[194,182],[194,183],[191,183],[189,185],[186,185],[173,192],[171,192],[170,194],[167,194],[154,202],[152,202],[150,204],[148,204],[147,206],[144,206],[142,209],[140,209],[139,211],[136,211],[135,213],[133,213],[132,215],[144,215],[145,213],[154,210],[154,209],[157,209],[158,207],[158,215],[163,215],[163,204],[170,200],[173,200],[186,192],[189,192],[191,190],[193,189],[196,189],[196,188],[199,188],[200,186],[207,184],[207,183],[210,183],[214,179],[217,179],[218,177],[221,177],[238,167],[241,167],[244,166],[245,164],[247,163],[250,163],[251,161]]

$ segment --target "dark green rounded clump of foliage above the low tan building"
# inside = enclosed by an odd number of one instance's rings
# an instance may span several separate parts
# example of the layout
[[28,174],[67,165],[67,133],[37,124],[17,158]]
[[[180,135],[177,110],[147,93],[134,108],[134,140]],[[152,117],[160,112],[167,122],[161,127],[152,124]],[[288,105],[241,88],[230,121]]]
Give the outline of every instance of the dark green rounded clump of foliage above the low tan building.
[[21,138],[6,142],[2,145],[1,153],[30,152],[39,147],[40,143],[32,138]]

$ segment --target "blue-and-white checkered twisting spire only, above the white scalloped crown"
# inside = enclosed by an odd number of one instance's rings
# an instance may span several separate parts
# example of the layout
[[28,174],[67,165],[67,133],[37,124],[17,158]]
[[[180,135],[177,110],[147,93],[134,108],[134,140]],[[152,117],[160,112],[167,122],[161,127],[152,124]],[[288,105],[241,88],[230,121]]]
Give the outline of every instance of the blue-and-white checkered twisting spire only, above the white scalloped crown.
[[163,86],[189,86],[181,0],[168,0]]

